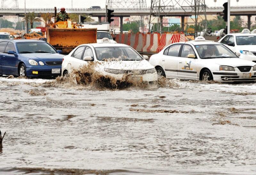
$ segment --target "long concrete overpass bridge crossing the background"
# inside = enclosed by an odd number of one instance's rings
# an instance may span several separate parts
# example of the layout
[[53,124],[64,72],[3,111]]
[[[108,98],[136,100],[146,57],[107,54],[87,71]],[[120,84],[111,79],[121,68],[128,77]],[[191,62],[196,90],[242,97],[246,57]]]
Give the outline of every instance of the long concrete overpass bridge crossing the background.
[[[206,7],[205,13],[206,15],[223,15],[223,7]],[[130,16],[148,16],[150,15],[150,7],[146,8],[113,8],[114,14],[116,17],[120,17],[120,23],[123,23],[123,17]],[[4,15],[16,15],[16,16],[24,16],[24,8],[1,8],[0,9],[0,17]],[[60,9],[57,9],[60,11]],[[106,15],[106,9],[91,9],[91,8],[67,8],[66,11],[68,13],[76,13],[76,14],[86,14],[93,17],[98,17],[99,21],[101,17]],[[28,8],[26,12],[35,12],[38,13],[53,13],[54,8]],[[156,10],[155,10],[156,12]],[[204,15],[204,11],[197,12],[198,15]],[[156,13],[152,14],[156,16]],[[165,7],[161,10],[159,16],[180,16],[184,21],[185,16],[195,15],[195,11],[193,7]],[[256,6],[233,6],[230,7],[230,15],[235,16],[248,16],[248,28],[251,26],[251,16],[256,15]],[[182,21],[181,20],[181,21]],[[121,28],[120,28],[120,31]]]

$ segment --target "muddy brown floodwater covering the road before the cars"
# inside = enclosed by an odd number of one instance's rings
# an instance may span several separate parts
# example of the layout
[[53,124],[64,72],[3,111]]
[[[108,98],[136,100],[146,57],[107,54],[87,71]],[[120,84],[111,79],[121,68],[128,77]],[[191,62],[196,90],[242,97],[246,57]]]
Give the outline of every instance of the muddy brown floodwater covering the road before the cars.
[[0,174],[256,174],[256,84],[0,78]]

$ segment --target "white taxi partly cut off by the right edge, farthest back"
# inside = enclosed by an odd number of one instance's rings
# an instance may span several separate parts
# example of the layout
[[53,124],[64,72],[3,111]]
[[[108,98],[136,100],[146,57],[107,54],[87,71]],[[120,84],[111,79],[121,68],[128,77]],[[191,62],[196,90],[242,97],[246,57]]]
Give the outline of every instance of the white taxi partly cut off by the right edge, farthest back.
[[255,33],[234,33],[221,38],[219,43],[225,44],[235,53],[241,53],[241,59],[256,63],[256,34]]

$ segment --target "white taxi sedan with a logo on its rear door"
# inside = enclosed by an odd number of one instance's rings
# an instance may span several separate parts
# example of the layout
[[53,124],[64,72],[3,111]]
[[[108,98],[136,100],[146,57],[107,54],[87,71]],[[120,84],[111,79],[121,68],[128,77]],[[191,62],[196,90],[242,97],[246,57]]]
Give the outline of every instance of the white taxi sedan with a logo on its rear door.
[[239,59],[225,45],[205,41],[202,36],[195,41],[167,46],[152,55],[149,63],[159,75],[167,78],[218,82],[256,80],[256,63]]

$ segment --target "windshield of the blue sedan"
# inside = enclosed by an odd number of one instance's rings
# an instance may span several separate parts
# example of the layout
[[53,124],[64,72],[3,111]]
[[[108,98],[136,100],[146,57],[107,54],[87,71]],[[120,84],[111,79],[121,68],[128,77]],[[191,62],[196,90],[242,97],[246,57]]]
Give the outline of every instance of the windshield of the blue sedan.
[[19,53],[56,53],[56,51],[45,42],[17,43]]

